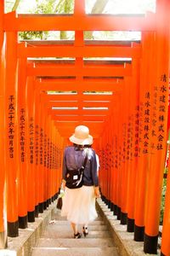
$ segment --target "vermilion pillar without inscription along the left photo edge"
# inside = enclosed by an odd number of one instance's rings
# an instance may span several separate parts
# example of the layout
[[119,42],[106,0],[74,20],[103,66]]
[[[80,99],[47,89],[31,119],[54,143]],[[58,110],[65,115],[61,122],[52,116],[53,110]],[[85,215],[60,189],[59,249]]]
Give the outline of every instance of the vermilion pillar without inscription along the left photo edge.
[[5,89],[5,39],[3,33],[3,10],[4,1],[0,2],[0,249],[7,246],[7,208],[6,208],[6,189],[5,189],[5,162],[4,162],[4,89]]

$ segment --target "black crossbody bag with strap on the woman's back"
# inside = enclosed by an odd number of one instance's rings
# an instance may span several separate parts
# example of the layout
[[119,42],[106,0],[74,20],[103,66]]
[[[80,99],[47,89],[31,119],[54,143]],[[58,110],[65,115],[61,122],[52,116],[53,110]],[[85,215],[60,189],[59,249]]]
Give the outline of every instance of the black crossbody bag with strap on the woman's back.
[[75,170],[67,170],[65,175],[65,186],[69,189],[78,189],[82,187],[83,183],[83,171],[88,160],[88,150],[86,151],[86,156],[84,159],[83,166]]

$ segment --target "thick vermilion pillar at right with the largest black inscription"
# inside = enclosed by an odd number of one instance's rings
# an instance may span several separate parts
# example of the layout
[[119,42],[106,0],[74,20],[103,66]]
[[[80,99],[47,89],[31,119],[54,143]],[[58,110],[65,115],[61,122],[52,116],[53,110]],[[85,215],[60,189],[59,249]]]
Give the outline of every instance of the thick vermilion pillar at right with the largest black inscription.
[[[146,197],[144,253],[157,252],[162,177],[166,159],[167,103],[169,82],[169,17],[170,2],[156,2],[156,64],[152,87],[151,155]],[[166,54],[165,54],[166,52]],[[154,60],[152,60],[154,65]],[[150,63],[150,65],[152,65]]]

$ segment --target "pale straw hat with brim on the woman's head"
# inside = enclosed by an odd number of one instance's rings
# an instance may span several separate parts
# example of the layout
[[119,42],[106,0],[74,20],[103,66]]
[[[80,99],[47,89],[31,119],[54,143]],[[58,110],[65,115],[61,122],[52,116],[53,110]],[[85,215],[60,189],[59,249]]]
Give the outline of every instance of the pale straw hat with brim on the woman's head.
[[75,133],[70,137],[71,143],[77,145],[91,145],[93,137],[89,135],[89,129],[85,125],[78,125],[75,128]]

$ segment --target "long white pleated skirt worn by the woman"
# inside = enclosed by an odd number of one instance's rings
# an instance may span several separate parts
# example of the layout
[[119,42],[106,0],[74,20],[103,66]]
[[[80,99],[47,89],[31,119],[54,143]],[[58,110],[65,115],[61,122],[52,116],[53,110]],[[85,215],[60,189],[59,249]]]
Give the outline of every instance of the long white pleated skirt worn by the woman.
[[98,217],[95,209],[94,186],[65,188],[61,216],[74,224],[88,224]]

